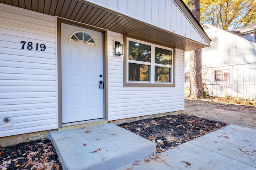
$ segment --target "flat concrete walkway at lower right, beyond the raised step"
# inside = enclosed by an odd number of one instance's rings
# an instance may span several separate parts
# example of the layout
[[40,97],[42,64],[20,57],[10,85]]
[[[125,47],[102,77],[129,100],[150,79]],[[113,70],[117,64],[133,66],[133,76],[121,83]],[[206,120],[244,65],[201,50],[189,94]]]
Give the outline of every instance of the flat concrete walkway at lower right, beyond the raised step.
[[118,170],[256,170],[256,130],[228,125],[166,150],[157,158],[149,163],[142,159],[138,165]]

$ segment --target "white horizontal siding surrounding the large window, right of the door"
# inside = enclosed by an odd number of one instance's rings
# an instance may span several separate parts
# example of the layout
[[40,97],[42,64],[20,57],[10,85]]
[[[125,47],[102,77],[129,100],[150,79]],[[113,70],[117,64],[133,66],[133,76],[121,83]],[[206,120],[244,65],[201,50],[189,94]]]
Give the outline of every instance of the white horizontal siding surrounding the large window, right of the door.
[[123,56],[114,54],[114,40],[122,42],[122,35],[109,31],[108,120],[183,110],[183,51],[176,49],[176,87],[123,87]]

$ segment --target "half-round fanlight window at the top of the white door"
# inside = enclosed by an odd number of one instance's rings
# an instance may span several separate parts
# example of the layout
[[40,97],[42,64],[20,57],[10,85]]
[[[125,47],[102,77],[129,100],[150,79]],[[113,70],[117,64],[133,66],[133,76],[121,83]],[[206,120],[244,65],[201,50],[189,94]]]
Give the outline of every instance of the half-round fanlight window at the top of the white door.
[[70,35],[70,42],[95,45],[94,40],[84,31],[76,31]]

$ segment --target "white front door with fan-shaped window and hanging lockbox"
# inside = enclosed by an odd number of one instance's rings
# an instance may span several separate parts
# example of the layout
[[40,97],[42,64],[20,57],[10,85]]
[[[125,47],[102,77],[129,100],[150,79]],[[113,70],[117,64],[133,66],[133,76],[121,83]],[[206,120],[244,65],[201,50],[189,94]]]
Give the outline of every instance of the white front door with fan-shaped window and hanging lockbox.
[[104,117],[103,33],[61,23],[62,123]]

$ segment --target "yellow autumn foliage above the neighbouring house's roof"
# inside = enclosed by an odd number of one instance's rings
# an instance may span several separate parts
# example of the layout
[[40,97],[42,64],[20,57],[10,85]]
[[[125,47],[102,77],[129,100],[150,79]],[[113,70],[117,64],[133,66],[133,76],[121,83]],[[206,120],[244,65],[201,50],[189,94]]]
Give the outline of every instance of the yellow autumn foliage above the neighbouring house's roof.
[[201,24],[224,30],[249,25],[256,22],[256,0],[200,0],[200,15]]

